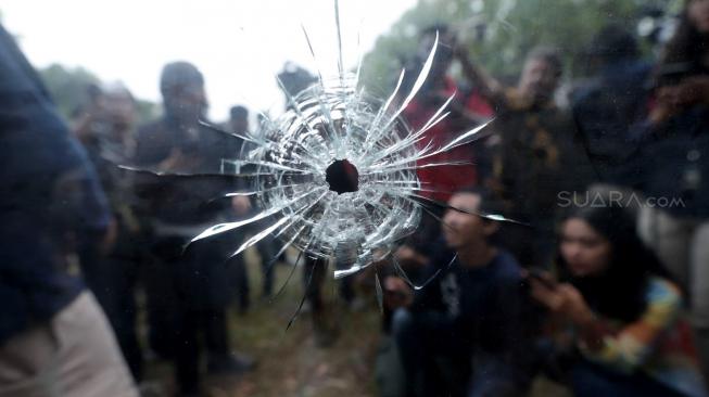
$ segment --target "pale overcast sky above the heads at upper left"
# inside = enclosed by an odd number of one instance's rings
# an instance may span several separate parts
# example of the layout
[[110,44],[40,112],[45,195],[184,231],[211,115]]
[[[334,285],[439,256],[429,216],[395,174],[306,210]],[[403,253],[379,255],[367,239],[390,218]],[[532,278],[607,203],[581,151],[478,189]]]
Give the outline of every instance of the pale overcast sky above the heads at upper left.
[[[340,0],[344,64],[354,67],[358,54],[415,3]],[[190,61],[205,76],[216,121],[237,103],[278,107],[274,76],[286,61],[315,71],[301,25],[320,68],[337,71],[330,0],[0,0],[0,14],[35,66],[83,66],[152,101],[160,100],[162,66]]]

